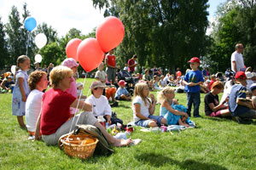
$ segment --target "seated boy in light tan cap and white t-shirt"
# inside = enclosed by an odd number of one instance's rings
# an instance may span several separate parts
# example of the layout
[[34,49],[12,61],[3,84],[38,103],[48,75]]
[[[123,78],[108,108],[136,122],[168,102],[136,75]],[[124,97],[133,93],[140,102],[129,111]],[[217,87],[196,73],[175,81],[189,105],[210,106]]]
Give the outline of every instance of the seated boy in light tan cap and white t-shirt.
[[123,121],[112,117],[110,105],[108,105],[107,97],[103,96],[103,89],[107,86],[101,81],[92,82],[90,85],[91,95],[85,100],[92,105],[92,114],[94,116],[104,116],[109,125],[121,123]]

